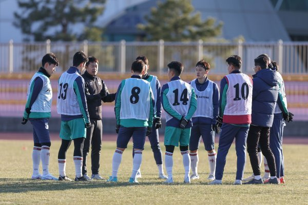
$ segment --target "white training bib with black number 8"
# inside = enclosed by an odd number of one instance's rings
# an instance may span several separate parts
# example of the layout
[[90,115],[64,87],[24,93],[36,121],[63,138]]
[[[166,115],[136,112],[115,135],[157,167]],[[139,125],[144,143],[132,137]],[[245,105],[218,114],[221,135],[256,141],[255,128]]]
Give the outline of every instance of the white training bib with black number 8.
[[120,119],[148,120],[150,114],[150,83],[144,79],[127,78],[121,93]]

